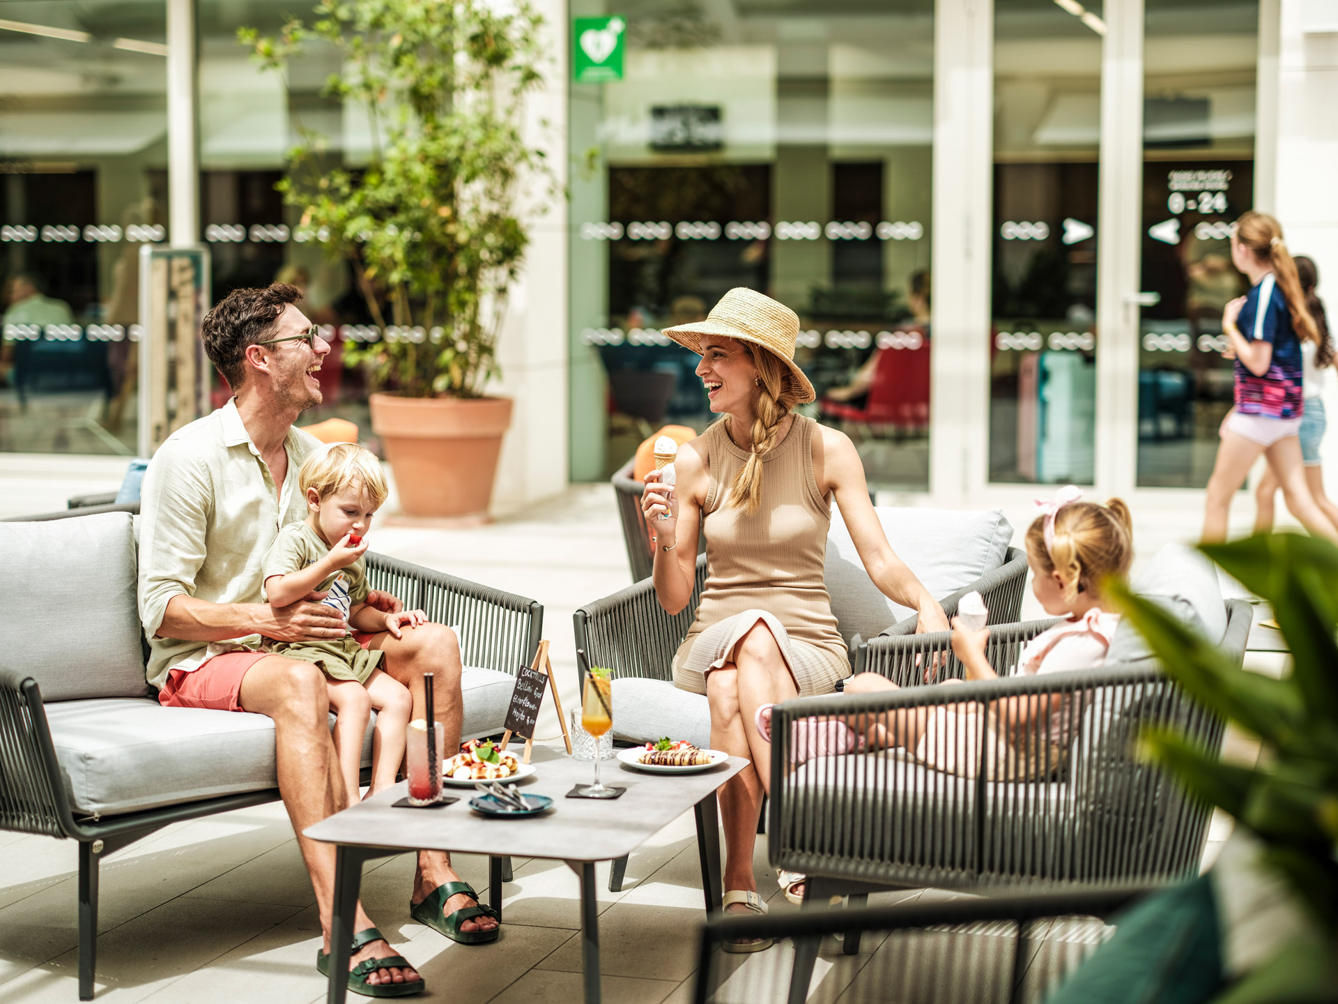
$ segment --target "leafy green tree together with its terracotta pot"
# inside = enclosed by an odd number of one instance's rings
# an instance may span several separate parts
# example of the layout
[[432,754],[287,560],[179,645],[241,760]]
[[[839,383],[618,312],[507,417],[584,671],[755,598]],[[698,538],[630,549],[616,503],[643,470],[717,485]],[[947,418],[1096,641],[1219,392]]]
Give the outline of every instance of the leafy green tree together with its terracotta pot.
[[520,131],[542,82],[541,19],[526,0],[326,0],[316,15],[274,36],[238,32],[276,72],[304,43],[332,46],[344,68],[324,94],[367,116],[357,169],[300,131],[278,185],[301,213],[293,236],[349,262],[380,331],[347,343],[344,360],[369,368],[404,511],[486,513],[511,422],[511,400],[486,388],[527,244],[519,189],[549,177]]

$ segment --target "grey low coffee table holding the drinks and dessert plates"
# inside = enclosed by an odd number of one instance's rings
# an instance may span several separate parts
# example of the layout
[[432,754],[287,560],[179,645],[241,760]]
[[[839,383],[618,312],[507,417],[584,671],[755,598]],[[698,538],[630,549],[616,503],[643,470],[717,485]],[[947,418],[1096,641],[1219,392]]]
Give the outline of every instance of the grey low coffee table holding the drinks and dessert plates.
[[[459,795],[440,809],[396,809],[405,782],[309,826],[313,841],[336,845],[334,916],[330,924],[329,1004],[344,1004],[348,989],[353,912],[363,881],[363,862],[405,850],[447,850],[488,855],[488,905],[502,913],[502,865],[507,857],[565,861],[581,877],[581,938],[586,1004],[599,1001],[599,912],[594,865],[625,857],[692,809],[697,817],[697,850],[706,912],[720,909],[720,822],[716,788],[748,760],[731,756],[700,774],[646,774],[617,760],[599,764],[605,784],[628,790],[615,799],[566,798],[589,784],[593,766],[549,747],[535,746],[538,772],[520,783],[524,794],[547,795],[553,809],[522,819],[496,819],[470,809],[474,788],[447,788]],[[503,932],[503,937],[506,933]]]

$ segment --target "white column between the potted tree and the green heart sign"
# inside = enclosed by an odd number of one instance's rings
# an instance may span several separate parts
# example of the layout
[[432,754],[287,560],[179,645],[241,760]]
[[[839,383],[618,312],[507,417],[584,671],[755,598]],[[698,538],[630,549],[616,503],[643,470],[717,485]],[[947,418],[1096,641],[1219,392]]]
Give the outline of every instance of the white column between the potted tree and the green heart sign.
[[539,0],[543,51],[551,54],[543,87],[526,106],[524,138],[546,150],[555,190],[533,182],[524,197],[530,246],[511,285],[498,341],[502,365],[491,394],[514,399],[502,444],[492,511],[515,511],[567,486],[567,9]]

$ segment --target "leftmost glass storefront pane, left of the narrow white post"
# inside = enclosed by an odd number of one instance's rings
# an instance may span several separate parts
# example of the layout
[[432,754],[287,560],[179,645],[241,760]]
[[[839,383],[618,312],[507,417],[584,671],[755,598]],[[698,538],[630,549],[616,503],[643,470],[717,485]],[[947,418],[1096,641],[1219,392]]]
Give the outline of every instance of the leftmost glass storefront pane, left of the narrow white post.
[[0,451],[128,456],[138,252],[167,224],[165,8],[4,16],[31,29],[0,31]]

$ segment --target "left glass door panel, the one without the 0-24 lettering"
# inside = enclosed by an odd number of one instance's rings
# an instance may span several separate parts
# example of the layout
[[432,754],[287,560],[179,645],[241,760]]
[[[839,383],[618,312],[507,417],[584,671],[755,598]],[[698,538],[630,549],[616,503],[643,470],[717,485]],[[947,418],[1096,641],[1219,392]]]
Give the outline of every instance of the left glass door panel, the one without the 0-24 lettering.
[[989,479],[1090,485],[1103,3],[994,7]]

